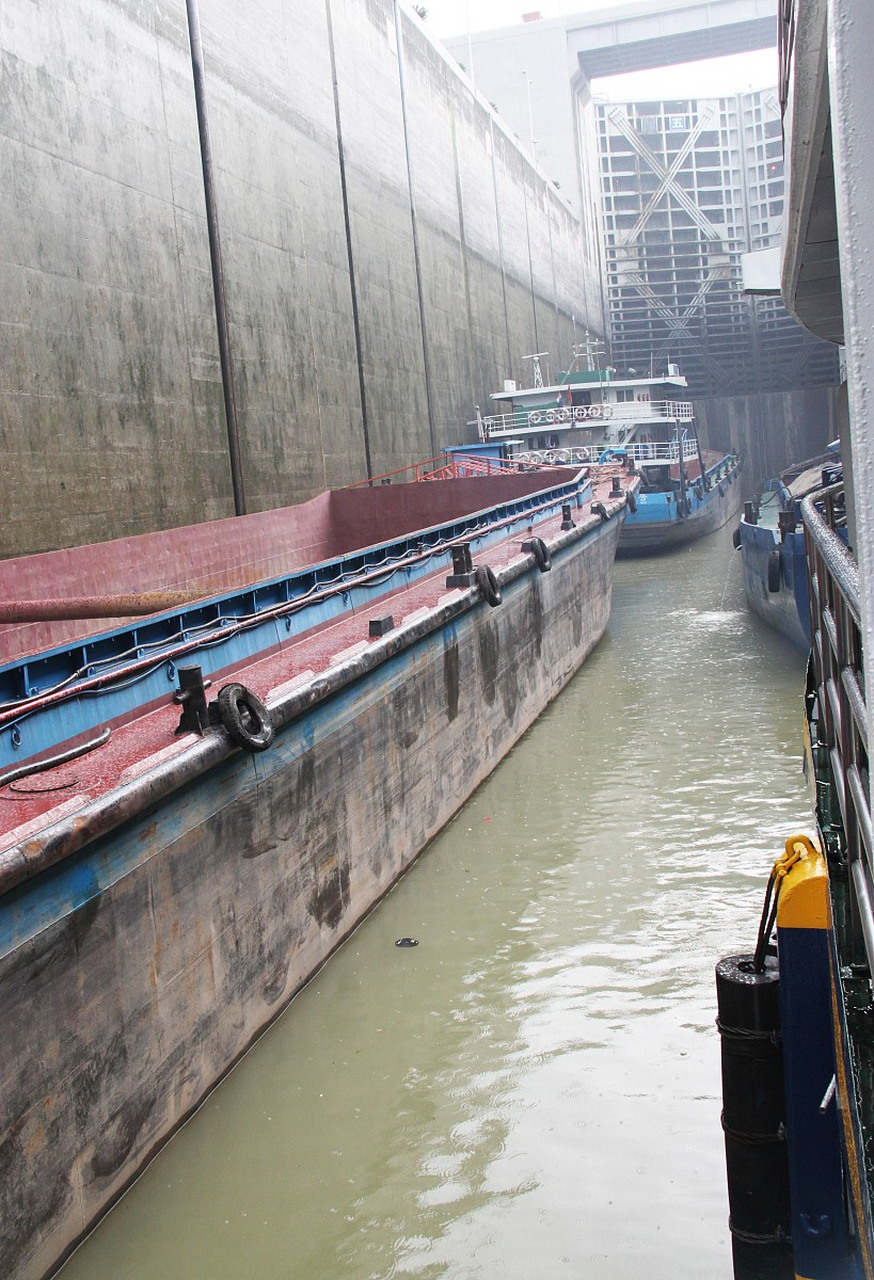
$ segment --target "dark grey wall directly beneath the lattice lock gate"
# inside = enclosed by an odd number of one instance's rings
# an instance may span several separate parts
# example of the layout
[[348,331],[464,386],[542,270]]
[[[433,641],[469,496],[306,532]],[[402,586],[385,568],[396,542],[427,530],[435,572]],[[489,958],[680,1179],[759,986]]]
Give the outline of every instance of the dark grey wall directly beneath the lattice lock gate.
[[696,401],[701,440],[743,454],[743,490],[750,497],[761,481],[822,453],[838,438],[838,394],[837,387],[814,387]]

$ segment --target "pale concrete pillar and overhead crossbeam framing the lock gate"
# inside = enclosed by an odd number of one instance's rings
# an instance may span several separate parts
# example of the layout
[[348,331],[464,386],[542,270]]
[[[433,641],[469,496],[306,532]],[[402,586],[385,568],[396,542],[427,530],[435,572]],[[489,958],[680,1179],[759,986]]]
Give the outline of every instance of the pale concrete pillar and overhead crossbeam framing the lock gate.
[[775,50],[777,0],[644,0],[444,44],[562,195],[585,211],[598,200],[591,81]]

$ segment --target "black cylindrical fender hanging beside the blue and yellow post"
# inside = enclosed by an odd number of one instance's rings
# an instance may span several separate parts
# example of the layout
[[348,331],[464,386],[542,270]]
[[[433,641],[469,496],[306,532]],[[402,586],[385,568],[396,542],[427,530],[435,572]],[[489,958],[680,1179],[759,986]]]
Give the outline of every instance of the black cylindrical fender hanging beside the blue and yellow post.
[[717,1004],[735,1280],[793,1280],[777,957],[720,960]]

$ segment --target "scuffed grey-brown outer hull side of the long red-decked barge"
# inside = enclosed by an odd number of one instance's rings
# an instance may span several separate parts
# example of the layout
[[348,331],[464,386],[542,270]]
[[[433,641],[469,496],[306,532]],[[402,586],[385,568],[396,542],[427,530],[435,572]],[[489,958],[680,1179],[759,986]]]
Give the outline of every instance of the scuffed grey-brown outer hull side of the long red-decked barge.
[[607,622],[617,535],[6,896],[6,1280],[51,1270],[559,692]]

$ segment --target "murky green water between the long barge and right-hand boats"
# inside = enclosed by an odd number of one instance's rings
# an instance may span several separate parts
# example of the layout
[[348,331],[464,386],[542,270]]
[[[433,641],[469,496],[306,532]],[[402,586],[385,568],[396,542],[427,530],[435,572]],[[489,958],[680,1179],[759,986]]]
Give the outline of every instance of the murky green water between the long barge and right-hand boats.
[[63,1280],[728,1280],[713,966],[809,828],[802,667],[731,530],[617,564],[572,685]]

